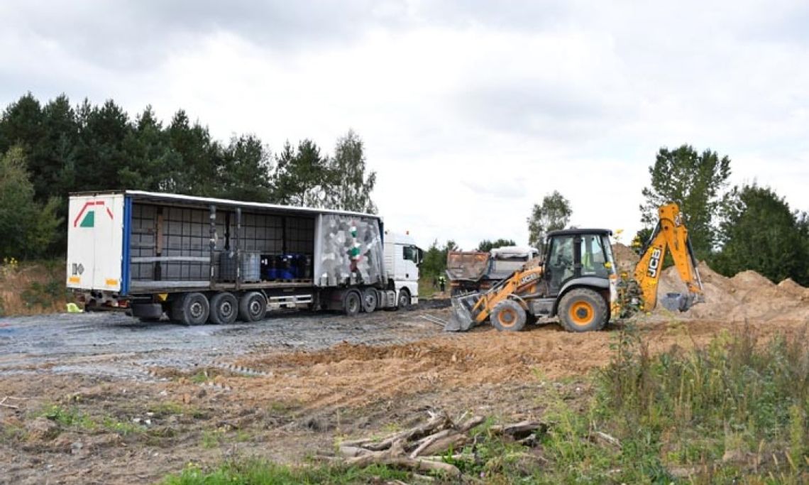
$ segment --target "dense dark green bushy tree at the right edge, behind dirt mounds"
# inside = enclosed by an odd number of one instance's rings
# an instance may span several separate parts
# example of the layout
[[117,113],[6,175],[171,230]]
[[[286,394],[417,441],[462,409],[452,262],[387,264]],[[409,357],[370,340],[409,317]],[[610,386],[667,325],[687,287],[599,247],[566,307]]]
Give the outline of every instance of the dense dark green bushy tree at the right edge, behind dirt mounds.
[[711,260],[728,276],[755,270],[774,282],[792,278],[809,284],[807,216],[769,188],[744,185],[731,194],[720,229],[722,250]]

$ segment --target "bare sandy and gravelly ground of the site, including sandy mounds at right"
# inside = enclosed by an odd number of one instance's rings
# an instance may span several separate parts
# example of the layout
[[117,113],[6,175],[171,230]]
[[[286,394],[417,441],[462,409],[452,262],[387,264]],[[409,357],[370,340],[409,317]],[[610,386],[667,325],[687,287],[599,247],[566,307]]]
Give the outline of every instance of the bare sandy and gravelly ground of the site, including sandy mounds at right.
[[[713,300],[701,309],[635,321],[650,351],[725,331],[766,339],[805,330],[805,288],[703,273]],[[116,313],[0,319],[0,482],[155,483],[192,462],[302,463],[332,454],[341,438],[406,428],[430,409],[541,419],[552,388],[587,406],[588,374],[609,363],[625,325],[447,334],[424,318],[448,313],[443,301],[222,326]]]

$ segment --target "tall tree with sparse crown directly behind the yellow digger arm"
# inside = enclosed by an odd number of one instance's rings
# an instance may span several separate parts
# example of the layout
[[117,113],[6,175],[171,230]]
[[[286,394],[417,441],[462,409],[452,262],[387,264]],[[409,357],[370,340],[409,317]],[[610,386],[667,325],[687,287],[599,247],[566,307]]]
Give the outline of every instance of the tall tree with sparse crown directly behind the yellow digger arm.
[[[705,259],[717,242],[716,224],[726,203],[731,159],[715,151],[698,153],[690,145],[675,150],[663,147],[649,167],[650,185],[644,187],[641,222],[654,227],[658,207],[678,202],[688,224],[694,252]],[[645,241],[644,241],[645,242]]]

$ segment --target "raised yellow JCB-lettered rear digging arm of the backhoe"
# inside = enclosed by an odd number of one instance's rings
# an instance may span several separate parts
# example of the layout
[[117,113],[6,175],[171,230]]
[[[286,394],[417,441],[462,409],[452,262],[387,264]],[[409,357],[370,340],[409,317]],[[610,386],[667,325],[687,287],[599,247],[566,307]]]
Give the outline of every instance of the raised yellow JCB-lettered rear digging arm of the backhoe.
[[685,311],[703,299],[702,281],[697,270],[697,259],[683,222],[680,206],[676,203],[660,206],[659,220],[643,250],[641,260],[635,266],[635,280],[643,294],[643,307],[651,310],[657,304],[658,283],[663,271],[666,250],[671,251],[674,266],[688,288],[688,294],[670,293],[661,303],[670,310]]

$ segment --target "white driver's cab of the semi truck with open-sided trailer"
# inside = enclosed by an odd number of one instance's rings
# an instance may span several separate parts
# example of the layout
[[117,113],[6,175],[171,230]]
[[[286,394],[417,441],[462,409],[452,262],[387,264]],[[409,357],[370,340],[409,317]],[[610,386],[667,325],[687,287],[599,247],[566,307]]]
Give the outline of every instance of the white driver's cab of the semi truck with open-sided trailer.
[[418,266],[424,251],[409,234],[385,232],[385,270],[396,289],[398,306],[418,303]]

